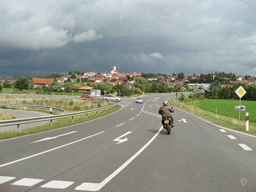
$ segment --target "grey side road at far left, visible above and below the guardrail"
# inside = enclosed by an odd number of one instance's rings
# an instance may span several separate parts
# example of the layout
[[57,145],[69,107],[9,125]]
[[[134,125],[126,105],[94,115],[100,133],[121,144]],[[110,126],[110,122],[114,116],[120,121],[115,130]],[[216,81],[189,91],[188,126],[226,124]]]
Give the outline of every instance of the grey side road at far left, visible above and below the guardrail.
[[[16,119],[49,115],[49,113],[43,113],[43,112],[38,112],[38,111],[23,111],[23,110],[15,110],[15,109],[0,109],[0,111],[5,112],[5,113],[12,113],[12,115],[15,116]],[[47,123],[48,123],[48,121],[34,122],[34,123],[29,123],[29,124],[21,124],[19,127],[19,130],[26,129],[26,128],[32,128],[32,127],[36,127],[39,125],[45,125]],[[3,133],[5,131],[17,131],[17,125],[0,127],[0,133]]]

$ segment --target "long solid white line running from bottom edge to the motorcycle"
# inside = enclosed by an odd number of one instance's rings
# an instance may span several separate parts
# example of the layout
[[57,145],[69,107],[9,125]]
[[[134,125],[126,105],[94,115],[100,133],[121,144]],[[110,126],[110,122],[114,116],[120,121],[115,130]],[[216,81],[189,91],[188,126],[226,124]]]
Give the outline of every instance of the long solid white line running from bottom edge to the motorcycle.
[[81,185],[77,186],[75,190],[81,191],[99,191],[103,186],[105,186],[111,179],[113,179],[117,174],[119,174],[126,166],[128,166],[138,155],[140,155],[145,148],[152,143],[152,141],[157,137],[157,135],[162,130],[163,126],[157,131],[156,134],[148,141],[137,153],[135,153],[130,159],[128,159],[122,166],[120,166],[116,171],[114,171],[111,175],[105,178],[101,183],[82,183]]

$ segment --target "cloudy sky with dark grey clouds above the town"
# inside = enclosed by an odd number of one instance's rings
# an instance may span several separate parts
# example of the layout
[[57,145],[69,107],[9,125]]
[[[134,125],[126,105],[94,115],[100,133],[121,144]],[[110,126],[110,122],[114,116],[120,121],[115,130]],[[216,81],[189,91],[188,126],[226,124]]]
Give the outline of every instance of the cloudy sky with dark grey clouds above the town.
[[255,0],[0,0],[0,77],[256,76]]

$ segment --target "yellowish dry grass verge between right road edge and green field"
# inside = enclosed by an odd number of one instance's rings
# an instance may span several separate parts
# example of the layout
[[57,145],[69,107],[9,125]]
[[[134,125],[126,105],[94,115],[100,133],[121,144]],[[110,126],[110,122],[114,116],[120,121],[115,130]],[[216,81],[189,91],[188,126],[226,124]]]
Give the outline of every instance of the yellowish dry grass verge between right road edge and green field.
[[[176,99],[169,99],[169,103],[172,106],[180,109],[180,105],[176,105]],[[215,118],[215,113],[198,108],[196,101],[191,102],[189,104],[182,102],[181,110],[200,116],[201,118],[209,122],[212,122],[216,125],[220,125],[225,128],[230,128],[230,129],[238,130],[244,133],[256,135],[256,123],[250,122],[249,131],[246,131],[246,124],[244,120],[240,119],[240,125],[238,125],[238,119],[235,119],[233,117],[217,115],[217,118]]]

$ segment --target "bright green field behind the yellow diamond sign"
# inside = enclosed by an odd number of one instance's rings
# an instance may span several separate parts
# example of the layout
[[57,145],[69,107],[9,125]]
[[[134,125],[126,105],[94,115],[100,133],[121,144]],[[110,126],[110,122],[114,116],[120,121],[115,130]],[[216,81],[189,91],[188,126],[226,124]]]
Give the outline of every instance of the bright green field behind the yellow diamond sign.
[[[218,115],[239,119],[239,111],[235,111],[235,105],[239,105],[239,100],[206,99],[198,102],[194,106],[212,113],[215,113],[217,107]],[[244,120],[246,113],[249,113],[249,121],[256,122],[256,101],[241,100],[241,105],[245,105],[246,111],[241,111],[240,120]]]

